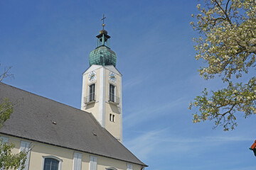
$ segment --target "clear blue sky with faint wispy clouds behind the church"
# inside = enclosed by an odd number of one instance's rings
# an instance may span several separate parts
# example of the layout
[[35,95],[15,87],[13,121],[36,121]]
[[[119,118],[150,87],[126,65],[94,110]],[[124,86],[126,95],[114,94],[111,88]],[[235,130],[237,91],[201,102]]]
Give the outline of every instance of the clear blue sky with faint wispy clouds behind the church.
[[0,71],[6,84],[80,108],[82,72],[89,67],[105,13],[117,69],[123,75],[124,145],[147,169],[255,169],[248,149],[255,116],[238,116],[223,132],[213,122],[192,123],[188,104],[223,86],[197,69],[189,25],[196,0],[0,1]]

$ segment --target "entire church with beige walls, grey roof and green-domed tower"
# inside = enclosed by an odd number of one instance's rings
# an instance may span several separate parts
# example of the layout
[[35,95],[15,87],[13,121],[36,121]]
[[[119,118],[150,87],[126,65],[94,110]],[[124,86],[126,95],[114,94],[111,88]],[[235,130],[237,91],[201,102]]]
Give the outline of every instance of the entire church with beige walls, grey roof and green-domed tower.
[[13,153],[28,150],[26,170],[142,170],[122,145],[122,74],[100,31],[82,75],[81,109],[0,83],[0,101],[9,98],[14,112],[0,129]]

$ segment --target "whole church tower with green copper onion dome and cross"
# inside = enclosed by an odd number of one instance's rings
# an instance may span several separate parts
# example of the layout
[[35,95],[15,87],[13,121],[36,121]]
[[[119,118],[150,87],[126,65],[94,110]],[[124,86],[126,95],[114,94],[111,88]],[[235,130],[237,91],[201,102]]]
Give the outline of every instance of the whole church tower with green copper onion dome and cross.
[[102,128],[122,142],[122,74],[116,69],[117,55],[110,49],[110,35],[103,29],[90,52],[90,67],[82,74],[81,110],[92,113]]

